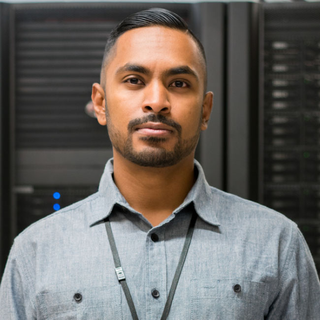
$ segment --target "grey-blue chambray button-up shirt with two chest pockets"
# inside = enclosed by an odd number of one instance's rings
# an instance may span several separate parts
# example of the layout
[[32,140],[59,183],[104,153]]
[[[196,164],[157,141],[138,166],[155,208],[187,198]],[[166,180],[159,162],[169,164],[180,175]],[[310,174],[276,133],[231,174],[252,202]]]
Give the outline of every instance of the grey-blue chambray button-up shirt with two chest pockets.
[[[109,160],[97,193],[17,236],[1,282],[0,320],[132,319],[107,216],[139,320],[160,319],[191,219],[188,204],[198,217],[169,320],[319,320],[319,279],[296,224],[210,187],[195,166],[185,201],[152,227],[118,191]],[[116,203],[121,210],[113,210]]]

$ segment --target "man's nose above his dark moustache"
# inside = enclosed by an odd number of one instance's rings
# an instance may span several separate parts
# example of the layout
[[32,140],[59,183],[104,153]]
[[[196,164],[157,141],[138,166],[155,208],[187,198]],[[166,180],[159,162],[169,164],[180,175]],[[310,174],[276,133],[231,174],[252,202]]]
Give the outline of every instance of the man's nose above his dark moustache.
[[143,112],[167,114],[171,111],[171,104],[166,87],[157,81],[148,84],[145,88]]

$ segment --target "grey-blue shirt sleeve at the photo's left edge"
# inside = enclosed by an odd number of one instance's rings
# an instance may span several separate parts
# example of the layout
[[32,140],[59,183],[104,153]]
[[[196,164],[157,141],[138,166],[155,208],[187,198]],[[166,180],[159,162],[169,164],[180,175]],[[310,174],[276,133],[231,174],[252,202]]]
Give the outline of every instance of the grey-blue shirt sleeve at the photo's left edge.
[[0,284],[0,319],[35,320],[28,276],[20,266],[21,256],[14,244],[11,248]]

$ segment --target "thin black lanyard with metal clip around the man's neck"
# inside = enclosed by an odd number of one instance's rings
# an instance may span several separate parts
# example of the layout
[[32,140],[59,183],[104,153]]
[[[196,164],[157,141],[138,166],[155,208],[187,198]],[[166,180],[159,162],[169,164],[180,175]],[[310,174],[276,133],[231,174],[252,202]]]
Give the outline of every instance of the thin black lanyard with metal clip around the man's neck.
[[[180,277],[180,274],[181,274],[181,270],[182,270],[183,264],[185,263],[185,259],[186,259],[187,253],[188,253],[188,249],[189,249],[189,246],[190,246],[191,239],[192,239],[192,233],[193,233],[193,228],[194,228],[194,224],[195,224],[196,218],[197,218],[197,215],[193,210],[191,221],[190,221],[190,225],[189,225],[189,229],[188,229],[186,240],[185,240],[185,244],[184,244],[184,246],[182,248],[182,252],[181,252],[181,255],[180,255],[180,258],[179,258],[177,269],[176,269],[176,272],[174,274],[174,277],[173,277],[173,280],[172,280],[172,284],[171,284],[171,288],[170,288],[170,291],[169,291],[169,294],[168,294],[168,297],[167,297],[167,301],[165,302],[163,313],[162,313],[162,316],[161,316],[160,320],[165,320],[168,317],[168,314],[169,314],[169,311],[170,311],[170,307],[171,307],[171,303],[172,303],[172,299],[173,299],[173,296],[174,296],[174,292],[176,291],[177,284],[178,284],[178,281],[179,281],[179,277]],[[110,243],[110,247],[111,247],[111,251],[112,251],[112,256],[113,256],[114,265],[115,265],[115,271],[116,271],[118,280],[121,283],[121,286],[122,286],[122,288],[124,290],[124,293],[126,295],[132,319],[133,320],[139,320],[138,316],[137,316],[137,312],[135,311],[135,308],[134,308],[134,304],[133,304],[133,301],[132,301],[132,297],[131,297],[127,282],[126,282],[125,273],[124,273],[124,271],[123,271],[123,269],[121,267],[121,264],[120,264],[118,250],[117,250],[116,243],[114,241],[114,237],[113,237],[113,234],[112,234],[112,229],[111,229],[109,218],[105,218],[104,219],[104,224],[105,224],[105,229],[107,230],[107,235],[108,235],[108,239],[109,239],[109,243]]]

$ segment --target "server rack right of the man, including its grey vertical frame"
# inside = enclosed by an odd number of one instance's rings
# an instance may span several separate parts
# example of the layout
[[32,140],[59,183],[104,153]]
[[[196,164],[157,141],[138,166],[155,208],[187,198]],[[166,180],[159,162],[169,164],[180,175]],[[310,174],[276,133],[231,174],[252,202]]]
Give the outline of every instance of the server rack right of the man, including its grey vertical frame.
[[318,272],[319,16],[319,3],[229,3],[224,86],[225,190],[295,221]]

